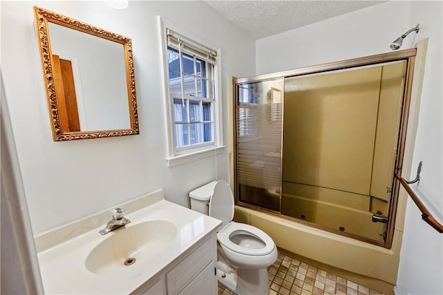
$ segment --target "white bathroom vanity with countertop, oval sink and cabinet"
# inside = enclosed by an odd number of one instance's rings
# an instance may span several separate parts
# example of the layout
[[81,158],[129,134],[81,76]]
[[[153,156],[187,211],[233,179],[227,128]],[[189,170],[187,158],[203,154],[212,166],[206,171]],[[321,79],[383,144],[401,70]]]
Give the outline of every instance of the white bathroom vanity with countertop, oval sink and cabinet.
[[119,207],[131,222],[105,235],[109,211],[35,237],[45,294],[217,294],[219,220],[163,190]]

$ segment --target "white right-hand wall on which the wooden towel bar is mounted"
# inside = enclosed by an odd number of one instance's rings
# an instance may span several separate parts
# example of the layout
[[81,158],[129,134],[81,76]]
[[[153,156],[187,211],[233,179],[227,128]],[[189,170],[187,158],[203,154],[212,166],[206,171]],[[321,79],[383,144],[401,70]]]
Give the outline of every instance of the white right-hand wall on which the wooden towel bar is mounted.
[[[423,161],[418,188],[440,214],[443,213],[442,4],[442,1],[413,2],[409,24],[410,27],[420,24],[417,38],[429,37],[413,155],[414,169],[410,178],[415,177],[417,165]],[[422,221],[420,215],[417,206],[408,199],[397,295],[443,294],[443,235]]]

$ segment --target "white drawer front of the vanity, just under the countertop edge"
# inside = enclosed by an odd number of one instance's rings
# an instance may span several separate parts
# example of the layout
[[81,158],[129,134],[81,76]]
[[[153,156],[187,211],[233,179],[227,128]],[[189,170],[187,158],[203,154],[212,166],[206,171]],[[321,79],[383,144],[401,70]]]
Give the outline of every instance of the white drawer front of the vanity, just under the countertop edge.
[[166,274],[168,294],[177,294],[217,257],[215,236],[201,244],[193,253]]

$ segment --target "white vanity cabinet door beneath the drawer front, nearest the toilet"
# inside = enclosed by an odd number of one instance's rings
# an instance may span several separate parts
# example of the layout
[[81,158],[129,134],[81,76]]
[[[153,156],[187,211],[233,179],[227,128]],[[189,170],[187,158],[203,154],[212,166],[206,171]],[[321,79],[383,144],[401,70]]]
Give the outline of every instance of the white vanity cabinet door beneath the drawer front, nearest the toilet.
[[186,294],[217,294],[217,280],[215,280],[215,263],[213,261],[207,265],[198,276],[192,280],[185,289],[181,290],[180,295]]

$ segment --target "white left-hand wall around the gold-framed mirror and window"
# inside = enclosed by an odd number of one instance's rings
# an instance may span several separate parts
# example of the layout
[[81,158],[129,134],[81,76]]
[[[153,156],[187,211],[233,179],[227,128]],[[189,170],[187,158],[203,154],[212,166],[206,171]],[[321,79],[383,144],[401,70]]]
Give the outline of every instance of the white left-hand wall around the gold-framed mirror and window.
[[[159,188],[189,206],[188,192],[228,179],[222,154],[168,168],[163,62],[158,15],[221,48],[224,135],[228,141],[229,75],[255,73],[255,42],[201,1],[1,1],[1,71],[35,234],[111,208]],[[132,38],[140,135],[54,142],[33,6]]]

